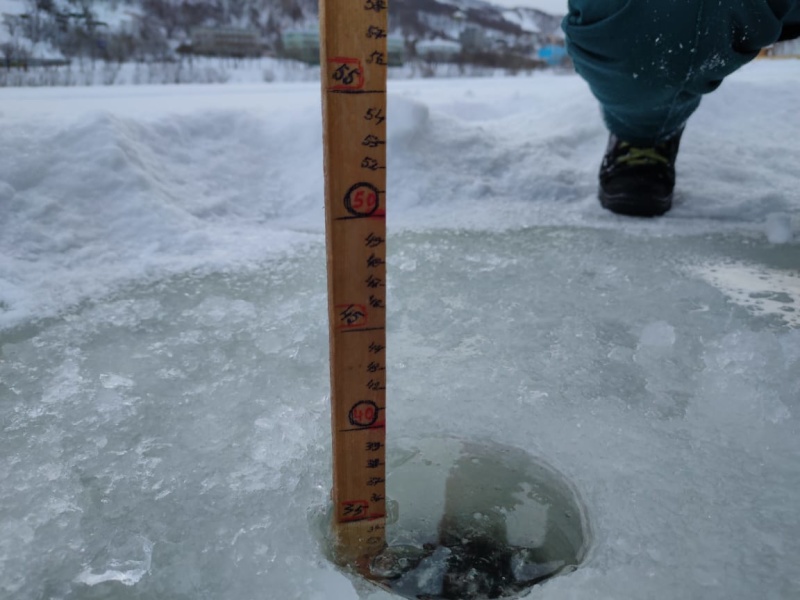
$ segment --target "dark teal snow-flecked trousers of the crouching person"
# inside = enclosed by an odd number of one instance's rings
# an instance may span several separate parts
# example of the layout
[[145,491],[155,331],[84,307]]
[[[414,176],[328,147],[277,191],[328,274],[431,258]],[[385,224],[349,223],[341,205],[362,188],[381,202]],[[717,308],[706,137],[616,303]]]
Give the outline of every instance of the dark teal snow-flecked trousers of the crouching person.
[[562,23],[609,130],[636,145],[680,130],[703,94],[798,26],[800,0],[569,0]]

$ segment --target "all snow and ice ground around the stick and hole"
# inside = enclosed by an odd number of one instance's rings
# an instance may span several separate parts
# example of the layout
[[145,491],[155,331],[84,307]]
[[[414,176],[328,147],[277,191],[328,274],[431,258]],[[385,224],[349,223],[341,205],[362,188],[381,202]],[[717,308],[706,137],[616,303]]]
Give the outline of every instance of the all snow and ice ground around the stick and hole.
[[[708,97],[654,221],[599,208],[576,76],[392,82],[390,441],[572,482],[589,554],[530,598],[800,596],[798,82]],[[320,139],[313,83],[2,91],[0,596],[356,597]]]

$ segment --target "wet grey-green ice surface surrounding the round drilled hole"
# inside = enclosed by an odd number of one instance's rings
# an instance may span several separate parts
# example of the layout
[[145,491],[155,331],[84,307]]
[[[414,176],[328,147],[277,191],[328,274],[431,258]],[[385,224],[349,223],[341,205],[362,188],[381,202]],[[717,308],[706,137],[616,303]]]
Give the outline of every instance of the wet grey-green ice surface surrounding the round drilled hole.
[[[588,560],[531,597],[797,589],[800,330],[686,269],[750,251],[561,228],[396,236],[390,266],[417,267],[392,271],[390,439],[497,439],[586,498]],[[336,580],[307,516],[330,485],[323,256],[134,285],[4,334],[7,595],[82,598],[88,574],[121,585],[113,561],[145,571],[144,598],[308,598]],[[149,569],[107,550],[117,536],[149,540]]]

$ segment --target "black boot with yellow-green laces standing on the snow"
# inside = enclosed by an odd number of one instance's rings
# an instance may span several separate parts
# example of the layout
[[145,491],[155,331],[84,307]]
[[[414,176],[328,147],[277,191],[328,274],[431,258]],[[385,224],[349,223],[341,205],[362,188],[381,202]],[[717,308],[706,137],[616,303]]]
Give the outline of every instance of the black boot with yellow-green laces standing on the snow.
[[657,217],[672,208],[682,133],[650,147],[633,146],[612,133],[600,166],[600,204],[635,217]]

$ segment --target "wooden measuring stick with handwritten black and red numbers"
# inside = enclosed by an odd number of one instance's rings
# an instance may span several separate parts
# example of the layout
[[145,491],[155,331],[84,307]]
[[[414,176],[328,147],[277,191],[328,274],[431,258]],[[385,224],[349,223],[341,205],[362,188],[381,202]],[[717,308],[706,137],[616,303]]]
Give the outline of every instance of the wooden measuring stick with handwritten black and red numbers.
[[333,533],[386,543],[386,0],[320,0]]

